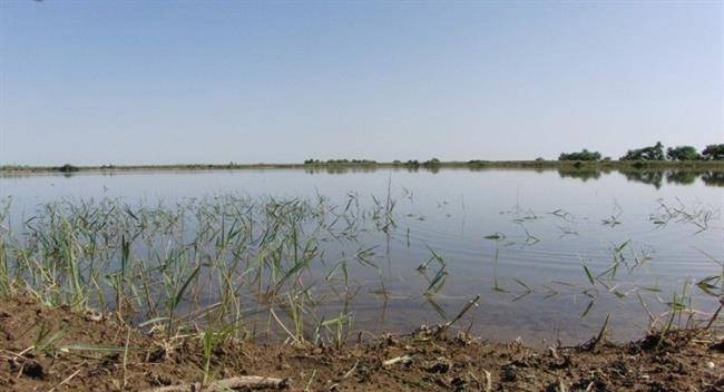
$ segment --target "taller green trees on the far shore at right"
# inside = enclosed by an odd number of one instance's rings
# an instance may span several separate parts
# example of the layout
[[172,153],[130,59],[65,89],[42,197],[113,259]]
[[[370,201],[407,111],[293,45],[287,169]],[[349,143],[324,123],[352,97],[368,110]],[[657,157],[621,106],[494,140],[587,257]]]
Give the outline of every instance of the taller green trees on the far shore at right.
[[[597,161],[610,160],[610,157],[601,158],[600,153],[584,148],[576,153],[560,153],[558,160]],[[668,147],[664,151],[664,145],[657,141],[654,146],[629,149],[618,160],[724,160],[724,144],[708,145],[702,153],[694,146]]]

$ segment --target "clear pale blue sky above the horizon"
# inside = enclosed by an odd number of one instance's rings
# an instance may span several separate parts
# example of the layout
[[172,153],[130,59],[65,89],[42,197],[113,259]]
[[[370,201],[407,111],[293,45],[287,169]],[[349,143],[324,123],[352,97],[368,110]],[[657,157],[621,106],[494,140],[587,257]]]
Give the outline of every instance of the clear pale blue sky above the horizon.
[[0,0],[0,164],[724,143],[722,1]]

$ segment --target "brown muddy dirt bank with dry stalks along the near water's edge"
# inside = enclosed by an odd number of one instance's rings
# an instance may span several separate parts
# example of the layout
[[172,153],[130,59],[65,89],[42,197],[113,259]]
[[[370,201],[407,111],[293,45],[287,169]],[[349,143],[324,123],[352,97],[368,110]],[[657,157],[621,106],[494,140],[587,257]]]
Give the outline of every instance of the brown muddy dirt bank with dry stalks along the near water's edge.
[[[546,351],[433,329],[342,350],[227,342],[213,350],[204,388],[232,381],[291,391],[724,391],[721,333],[659,337]],[[2,391],[145,391],[200,382],[206,364],[197,336],[168,340],[28,298],[1,301],[0,349]]]

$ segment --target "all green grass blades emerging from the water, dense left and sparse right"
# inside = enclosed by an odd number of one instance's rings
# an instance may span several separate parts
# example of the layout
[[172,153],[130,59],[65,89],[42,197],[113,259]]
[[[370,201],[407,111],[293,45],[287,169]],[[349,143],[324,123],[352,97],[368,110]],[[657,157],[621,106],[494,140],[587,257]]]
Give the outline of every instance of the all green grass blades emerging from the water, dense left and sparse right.
[[[212,351],[227,339],[283,336],[290,343],[340,346],[356,324],[353,300],[361,290],[381,287],[375,293],[382,294],[383,303],[391,297],[385,281],[391,277],[380,265],[384,257],[365,238],[372,233],[383,239],[403,242],[407,236],[410,241],[404,217],[397,213],[399,200],[390,188],[382,199],[365,204],[350,194],[342,205],[322,196],[219,195],[175,205],[60,200],[39,206],[19,227],[10,227],[9,205],[4,205],[0,208],[0,295],[29,293],[49,305],[112,312],[126,323],[154,327],[169,336],[198,333],[207,351],[206,378],[212,376]],[[569,218],[561,209],[549,214],[517,209],[511,214],[512,222]],[[662,203],[652,219],[707,229],[712,215],[701,207]],[[649,324],[664,321],[668,331],[673,325],[699,325],[692,318],[696,314],[693,290],[716,297],[724,288],[722,268],[720,275],[687,283],[666,304],[665,315],[656,316],[642,293],[657,295],[657,287],[622,286],[649,259],[635,252],[630,241],[612,245],[610,265],[596,271],[595,264],[583,264],[577,282],[554,281],[540,287],[517,277],[503,282],[498,267],[506,263],[506,248],[515,241],[520,246],[546,241],[526,227],[522,232],[525,236],[512,238],[501,233],[487,235],[489,241],[479,236],[495,248],[489,274],[492,295],[511,296],[512,301],[537,294],[539,301],[584,297],[581,317],[586,317],[597,300],[625,301],[635,293]],[[342,244],[344,253],[329,254],[327,243]],[[438,306],[434,300],[444,298],[446,282],[454,280],[450,271],[454,261],[428,249],[430,257],[415,263],[423,288],[405,294]],[[351,274],[352,264],[369,268],[379,284],[359,282]],[[516,288],[522,288],[522,294],[519,290],[515,293]],[[438,311],[446,318],[441,307]],[[39,336],[38,346],[53,350],[53,341],[52,336]]]

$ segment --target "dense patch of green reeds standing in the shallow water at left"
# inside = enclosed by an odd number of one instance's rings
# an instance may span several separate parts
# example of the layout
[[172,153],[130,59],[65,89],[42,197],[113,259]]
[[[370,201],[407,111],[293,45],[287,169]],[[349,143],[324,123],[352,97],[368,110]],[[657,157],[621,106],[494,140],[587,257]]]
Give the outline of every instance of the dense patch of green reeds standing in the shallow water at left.
[[[173,207],[53,203],[26,222],[22,235],[3,229],[0,294],[27,292],[49,305],[112,311],[170,334],[204,320],[205,331],[235,337],[276,330],[287,341],[339,344],[351,311],[332,317],[315,308],[331,297],[351,300],[350,263],[378,266],[372,248],[360,245],[327,259],[321,244],[354,243],[364,223],[387,229],[393,208],[388,200],[362,210],[353,196],[344,209],[323,197],[231,195]],[[263,329],[260,314],[275,326]]]

